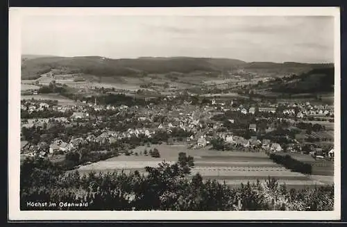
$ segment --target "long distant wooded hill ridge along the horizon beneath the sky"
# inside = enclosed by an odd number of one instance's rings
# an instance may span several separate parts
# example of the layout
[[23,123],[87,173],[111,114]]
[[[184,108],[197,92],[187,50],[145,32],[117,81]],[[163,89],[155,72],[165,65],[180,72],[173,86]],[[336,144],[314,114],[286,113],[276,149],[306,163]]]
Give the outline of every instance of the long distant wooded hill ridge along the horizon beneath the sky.
[[296,65],[301,63],[286,62],[244,62],[228,58],[153,58],[111,59],[100,56],[22,56],[22,78],[35,79],[52,69],[61,74],[89,74],[94,76],[144,76],[146,74],[167,74],[179,72],[221,72],[235,67],[252,69],[299,67],[312,69],[314,65]]

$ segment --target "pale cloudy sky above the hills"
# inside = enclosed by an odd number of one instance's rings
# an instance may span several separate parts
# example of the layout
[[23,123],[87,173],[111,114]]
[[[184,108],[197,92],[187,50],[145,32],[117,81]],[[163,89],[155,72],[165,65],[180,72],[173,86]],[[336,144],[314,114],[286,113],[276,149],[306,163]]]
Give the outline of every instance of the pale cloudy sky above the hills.
[[334,62],[327,16],[40,15],[22,20],[21,37],[22,54]]

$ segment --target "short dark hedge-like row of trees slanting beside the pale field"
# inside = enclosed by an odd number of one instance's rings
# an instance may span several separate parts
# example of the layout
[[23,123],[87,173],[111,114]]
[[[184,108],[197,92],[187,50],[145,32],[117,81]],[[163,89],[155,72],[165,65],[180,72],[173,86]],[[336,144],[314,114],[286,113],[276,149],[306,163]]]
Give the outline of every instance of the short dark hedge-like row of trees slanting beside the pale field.
[[271,158],[271,160],[280,165],[283,165],[287,169],[291,169],[302,174],[312,174],[312,166],[310,164],[291,158],[290,155],[284,156],[270,153],[269,157]]

